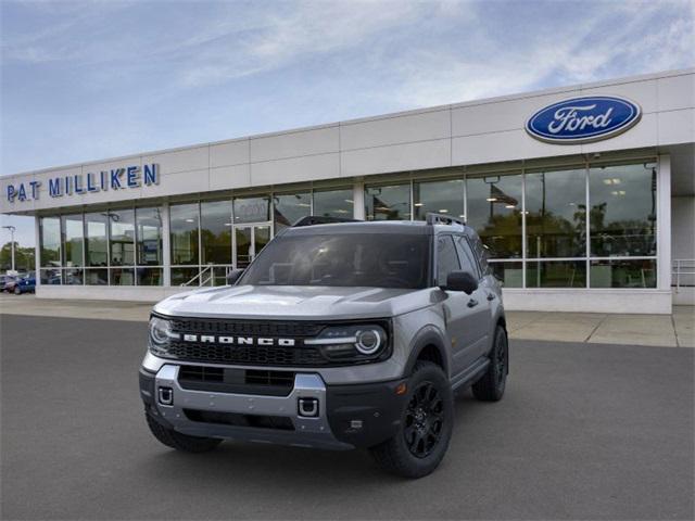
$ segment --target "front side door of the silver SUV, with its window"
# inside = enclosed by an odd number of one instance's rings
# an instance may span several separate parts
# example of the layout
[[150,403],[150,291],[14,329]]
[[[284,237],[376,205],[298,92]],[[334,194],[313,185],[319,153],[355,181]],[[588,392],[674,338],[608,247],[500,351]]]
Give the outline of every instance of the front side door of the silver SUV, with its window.
[[[450,272],[462,269],[454,237],[440,234],[437,237],[437,284],[446,284]],[[476,344],[471,326],[477,309],[469,307],[472,295],[463,291],[446,291],[442,302],[446,335],[452,345],[452,377],[455,380],[477,358],[473,351]]]

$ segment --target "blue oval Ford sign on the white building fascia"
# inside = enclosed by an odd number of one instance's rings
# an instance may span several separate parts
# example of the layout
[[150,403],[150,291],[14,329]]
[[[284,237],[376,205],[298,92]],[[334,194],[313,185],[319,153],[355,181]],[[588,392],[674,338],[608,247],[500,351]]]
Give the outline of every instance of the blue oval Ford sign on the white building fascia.
[[526,123],[526,130],[551,143],[586,143],[624,132],[641,116],[640,105],[624,98],[589,96],[541,109]]

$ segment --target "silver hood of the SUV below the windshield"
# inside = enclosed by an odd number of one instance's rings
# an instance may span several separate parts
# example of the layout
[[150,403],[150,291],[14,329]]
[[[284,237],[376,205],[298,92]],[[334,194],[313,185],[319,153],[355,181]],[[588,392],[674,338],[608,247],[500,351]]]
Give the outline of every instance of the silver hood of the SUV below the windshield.
[[154,312],[268,320],[388,318],[429,306],[432,297],[432,289],[232,285],[176,294]]

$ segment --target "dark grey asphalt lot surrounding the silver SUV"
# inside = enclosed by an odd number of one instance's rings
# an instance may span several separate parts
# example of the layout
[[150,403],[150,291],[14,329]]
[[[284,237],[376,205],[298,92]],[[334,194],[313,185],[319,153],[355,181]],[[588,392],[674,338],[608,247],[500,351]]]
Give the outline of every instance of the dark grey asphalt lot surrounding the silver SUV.
[[514,341],[432,475],[367,454],[160,445],[146,323],[0,316],[2,519],[693,519],[694,350]]

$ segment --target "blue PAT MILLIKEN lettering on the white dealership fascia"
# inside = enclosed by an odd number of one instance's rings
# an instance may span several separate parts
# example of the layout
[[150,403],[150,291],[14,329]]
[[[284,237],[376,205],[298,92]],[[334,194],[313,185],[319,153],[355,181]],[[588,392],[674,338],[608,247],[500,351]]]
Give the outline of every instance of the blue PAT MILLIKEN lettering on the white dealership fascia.
[[10,203],[38,200],[42,192],[51,198],[85,195],[94,192],[128,190],[160,183],[160,165],[151,163],[139,166],[124,166],[109,170],[89,171],[71,176],[56,176],[42,181],[27,181],[8,185],[4,189]]

